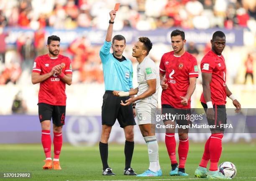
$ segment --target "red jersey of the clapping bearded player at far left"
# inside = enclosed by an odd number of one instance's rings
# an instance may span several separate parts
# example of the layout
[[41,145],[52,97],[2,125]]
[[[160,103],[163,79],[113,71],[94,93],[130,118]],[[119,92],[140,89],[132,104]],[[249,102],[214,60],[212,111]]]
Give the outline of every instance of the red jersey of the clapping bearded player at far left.
[[[59,55],[57,58],[51,58],[48,54],[41,55],[36,58],[32,72],[41,75],[51,72],[52,67],[62,64],[62,72],[64,74],[72,74],[72,64],[69,57]],[[62,82],[58,75],[53,75],[40,83],[38,93],[38,103],[46,103],[54,106],[66,105],[66,83]]]

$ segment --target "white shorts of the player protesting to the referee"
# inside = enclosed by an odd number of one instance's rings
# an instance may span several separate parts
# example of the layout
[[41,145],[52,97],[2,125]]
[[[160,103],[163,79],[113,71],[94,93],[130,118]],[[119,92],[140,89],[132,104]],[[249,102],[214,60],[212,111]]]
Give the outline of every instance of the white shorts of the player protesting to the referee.
[[155,114],[157,103],[150,104],[146,102],[136,103],[136,118],[138,124],[155,124]]

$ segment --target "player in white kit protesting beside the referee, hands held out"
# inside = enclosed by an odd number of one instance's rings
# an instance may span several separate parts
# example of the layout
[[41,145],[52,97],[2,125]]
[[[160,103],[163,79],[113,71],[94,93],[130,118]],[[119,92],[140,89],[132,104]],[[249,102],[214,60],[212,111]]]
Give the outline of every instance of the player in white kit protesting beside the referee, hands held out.
[[152,43],[147,37],[140,37],[133,47],[133,57],[138,61],[138,87],[129,92],[114,91],[116,96],[138,95],[121,105],[127,106],[136,102],[136,114],[141,134],[148,146],[149,168],[137,176],[162,176],[159,165],[158,144],[155,135],[154,116],[157,109],[158,90],[160,85],[159,69],[148,57]]

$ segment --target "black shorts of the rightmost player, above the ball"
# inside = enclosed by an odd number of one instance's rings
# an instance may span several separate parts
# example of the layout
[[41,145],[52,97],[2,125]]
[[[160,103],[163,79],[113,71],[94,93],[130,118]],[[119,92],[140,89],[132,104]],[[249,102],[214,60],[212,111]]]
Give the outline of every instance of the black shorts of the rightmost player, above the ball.
[[[207,111],[207,104],[201,102],[202,106],[205,109],[205,113]],[[227,112],[226,112],[226,106],[225,105],[216,105],[213,104],[213,110],[214,110],[214,120],[207,119],[209,125],[215,125],[215,128],[211,128],[210,130],[218,130],[218,131],[224,131],[225,128],[224,124],[227,124]]]

